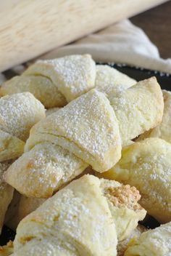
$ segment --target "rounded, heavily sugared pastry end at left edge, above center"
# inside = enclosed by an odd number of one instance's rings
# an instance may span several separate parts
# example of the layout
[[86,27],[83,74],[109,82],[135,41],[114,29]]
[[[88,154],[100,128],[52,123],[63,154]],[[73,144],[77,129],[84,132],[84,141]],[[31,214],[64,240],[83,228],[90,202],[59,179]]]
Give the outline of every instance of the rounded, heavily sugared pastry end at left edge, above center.
[[44,117],[45,108],[30,92],[0,98],[0,129],[20,140],[27,140],[30,128]]

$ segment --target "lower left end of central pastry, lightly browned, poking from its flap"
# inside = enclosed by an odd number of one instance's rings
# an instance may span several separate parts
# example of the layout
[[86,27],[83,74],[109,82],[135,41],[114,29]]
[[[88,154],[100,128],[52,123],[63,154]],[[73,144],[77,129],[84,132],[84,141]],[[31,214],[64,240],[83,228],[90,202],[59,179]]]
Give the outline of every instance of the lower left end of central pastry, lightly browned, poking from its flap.
[[14,161],[4,180],[25,196],[47,198],[87,166],[59,145],[40,143]]

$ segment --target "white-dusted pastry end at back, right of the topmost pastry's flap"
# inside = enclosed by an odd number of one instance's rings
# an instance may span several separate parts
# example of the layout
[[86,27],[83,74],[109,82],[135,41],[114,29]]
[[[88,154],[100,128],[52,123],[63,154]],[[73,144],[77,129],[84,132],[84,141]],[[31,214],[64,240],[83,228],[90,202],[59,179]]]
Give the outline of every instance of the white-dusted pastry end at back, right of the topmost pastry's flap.
[[121,73],[109,65],[96,65],[95,87],[99,92],[104,92],[107,97],[128,89],[134,84],[136,84],[136,80],[131,79],[125,73]]

